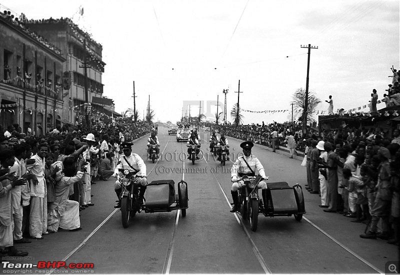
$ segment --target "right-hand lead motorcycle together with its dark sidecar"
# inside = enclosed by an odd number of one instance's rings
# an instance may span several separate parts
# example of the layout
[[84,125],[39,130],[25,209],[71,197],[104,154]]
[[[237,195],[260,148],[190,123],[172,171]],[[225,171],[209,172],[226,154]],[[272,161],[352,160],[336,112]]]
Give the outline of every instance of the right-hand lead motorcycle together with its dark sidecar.
[[266,201],[259,198],[257,184],[261,176],[238,177],[243,186],[238,189],[239,213],[242,218],[250,221],[251,230],[258,225],[258,214],[264,216],[294,216],[300,221],[305,213],[304,197],[301,186],[296,183],[292,187],[287,182],[269,182],[266,189]]

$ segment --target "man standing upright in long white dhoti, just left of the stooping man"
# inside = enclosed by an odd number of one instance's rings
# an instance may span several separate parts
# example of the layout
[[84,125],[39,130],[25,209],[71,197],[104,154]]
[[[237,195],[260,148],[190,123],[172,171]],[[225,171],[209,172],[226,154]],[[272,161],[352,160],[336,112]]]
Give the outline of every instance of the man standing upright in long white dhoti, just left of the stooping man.
[[30,213],[29,235],[34,239],[42,239],[47,232],[47,196],[46,181],[44,179],[44,156],[47,154],[47,145],[39,144],[39,149],[31,157],[35,162],[26,165],[28,172],[34,175],[30,183]]

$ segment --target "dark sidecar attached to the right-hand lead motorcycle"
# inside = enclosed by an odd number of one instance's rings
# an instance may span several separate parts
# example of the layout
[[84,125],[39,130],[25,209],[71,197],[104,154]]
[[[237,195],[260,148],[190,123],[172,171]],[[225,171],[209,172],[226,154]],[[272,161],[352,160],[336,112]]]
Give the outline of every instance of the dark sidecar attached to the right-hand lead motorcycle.
[[291,216],[301,220],[305,213],[303,191],[299,184],[290,187],[285,181],[267,182],[267,198],[261,213],[265,216]]

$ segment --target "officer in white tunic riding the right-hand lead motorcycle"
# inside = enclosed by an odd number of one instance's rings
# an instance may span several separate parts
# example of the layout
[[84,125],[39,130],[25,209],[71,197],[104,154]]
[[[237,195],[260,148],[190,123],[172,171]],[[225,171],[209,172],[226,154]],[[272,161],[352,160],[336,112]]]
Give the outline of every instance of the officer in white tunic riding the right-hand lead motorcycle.
[[[232,194],[233,199],[233,208],[230,212],[234,213],[238,210],[239,201],[238,201],[238,192],[237,190],[239,187],[243,186],[243,183],[237,180],[237,176],[255,176],[255,169],[257,169],[258,174],[262,176],[263,179],[268,179],[265,176],[264,167],[262,166],[261,162],[258,160],[257,157],[251,154],[251,148],[254,146],[253,142],[251,141],[244,141],[240,143],[240,147],[243,149],[243,155],[239,155],[236,161],[233,163],[231,168],[231,177],[232,177],[232,188],[230,193]],[[262,200],[266,203],[266,182],[261,180],[257,184],[258,189],[262,189]],[[265,207],[266,208],[266,207]]]

